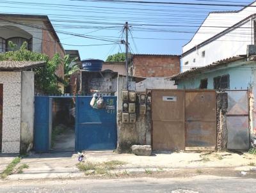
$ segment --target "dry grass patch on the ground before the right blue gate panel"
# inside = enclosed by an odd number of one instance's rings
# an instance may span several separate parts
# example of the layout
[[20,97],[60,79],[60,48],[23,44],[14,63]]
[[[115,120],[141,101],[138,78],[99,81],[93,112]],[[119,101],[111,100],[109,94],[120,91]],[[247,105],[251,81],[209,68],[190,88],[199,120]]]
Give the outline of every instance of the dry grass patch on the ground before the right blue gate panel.
[[[117,166],[127,164],[118,160],[112,160],[103,163],[84,162],[77,164],[77,168],[80,171],[84,171],[85,174],[110,174],[109,171],[116,169]],[[89,173],[89,171],[95,171]]]

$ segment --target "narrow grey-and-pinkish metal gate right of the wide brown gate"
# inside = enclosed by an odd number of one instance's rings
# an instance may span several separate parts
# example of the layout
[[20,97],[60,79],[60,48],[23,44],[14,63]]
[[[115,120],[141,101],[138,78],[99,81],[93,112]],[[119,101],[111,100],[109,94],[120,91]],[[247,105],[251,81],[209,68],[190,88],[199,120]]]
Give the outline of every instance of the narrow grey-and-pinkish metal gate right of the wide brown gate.
[[227,109],[227,130],[229,150],[248,150],[249,143],[249,105],[247,90],[229,90]]

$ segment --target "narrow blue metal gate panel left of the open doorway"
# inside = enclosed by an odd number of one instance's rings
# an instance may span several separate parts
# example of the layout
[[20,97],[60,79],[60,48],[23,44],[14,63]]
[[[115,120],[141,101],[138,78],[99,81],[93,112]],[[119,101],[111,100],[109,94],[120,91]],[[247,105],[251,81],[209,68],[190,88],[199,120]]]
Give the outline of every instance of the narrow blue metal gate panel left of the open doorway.
[[49,151],[49,96],[35,96],[34,149]]

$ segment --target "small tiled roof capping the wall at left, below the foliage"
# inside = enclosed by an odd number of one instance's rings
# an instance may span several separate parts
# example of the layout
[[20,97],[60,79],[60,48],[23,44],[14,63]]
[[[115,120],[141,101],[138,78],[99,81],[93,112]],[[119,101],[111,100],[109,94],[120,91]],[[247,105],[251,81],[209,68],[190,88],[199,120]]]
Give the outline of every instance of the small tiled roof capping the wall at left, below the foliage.
[[0,71],[23,71],[44,65],[45,61],[0,61]]

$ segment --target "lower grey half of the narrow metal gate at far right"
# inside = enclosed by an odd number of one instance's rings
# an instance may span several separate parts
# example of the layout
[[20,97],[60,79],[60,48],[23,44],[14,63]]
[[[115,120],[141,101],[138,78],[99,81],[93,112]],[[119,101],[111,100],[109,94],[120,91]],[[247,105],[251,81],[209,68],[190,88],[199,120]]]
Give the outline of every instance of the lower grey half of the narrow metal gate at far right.
[[248,150],[249,124],[248,116],[228,116],[228,143],[229,150]]

